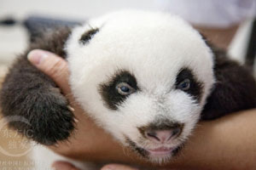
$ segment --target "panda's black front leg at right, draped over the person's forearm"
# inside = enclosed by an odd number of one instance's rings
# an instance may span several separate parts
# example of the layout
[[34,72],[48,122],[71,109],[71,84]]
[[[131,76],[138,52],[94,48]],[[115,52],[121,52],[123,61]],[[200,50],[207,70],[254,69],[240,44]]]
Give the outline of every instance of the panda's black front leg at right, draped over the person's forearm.
[[[211,46],[211,43],[207,42],[207,45]],[[201,119],[214,119],[231,112],[255,108],[256,82],[251,72],[229,59],[224,51],[211,48],[215,56],[216,83],[207,99]]]

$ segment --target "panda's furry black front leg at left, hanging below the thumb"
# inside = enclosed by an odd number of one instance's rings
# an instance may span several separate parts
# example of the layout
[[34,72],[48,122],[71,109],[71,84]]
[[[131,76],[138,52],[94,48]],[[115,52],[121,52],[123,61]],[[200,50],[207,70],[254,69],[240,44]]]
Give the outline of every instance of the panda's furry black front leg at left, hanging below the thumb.
[[0,97],[9,127],[29,139],[50,145],[73,132],[74,116],[67,99],[26,57],[20,57],[9,71]]

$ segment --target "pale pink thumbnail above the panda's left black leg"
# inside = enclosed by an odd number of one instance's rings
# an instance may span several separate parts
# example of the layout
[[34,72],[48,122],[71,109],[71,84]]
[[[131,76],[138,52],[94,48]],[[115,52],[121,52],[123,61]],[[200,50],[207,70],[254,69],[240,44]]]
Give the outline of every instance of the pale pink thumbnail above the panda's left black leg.
[[43,59],[47,58],[48,56],[48,52],[41,49],[34,49],[29,54],[27,54],[27,59],[32,62],[32,64],[39,65]]

